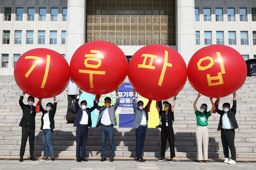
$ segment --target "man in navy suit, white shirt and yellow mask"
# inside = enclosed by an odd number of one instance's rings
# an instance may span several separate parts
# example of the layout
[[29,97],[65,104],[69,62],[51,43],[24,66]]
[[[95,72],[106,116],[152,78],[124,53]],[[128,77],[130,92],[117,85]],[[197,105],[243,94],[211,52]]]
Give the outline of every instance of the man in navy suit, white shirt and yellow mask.
[[[85,156],[85,146],[86,146],[86,140],[88,137],[88,127],[91,127],[91,112],[96,109],[98,106],[98,102],[96,102],[97,95],[93,101],[93,107],[86,108],[87,102],[86,100],[83,100],[81,104],[81,108],[79,107],[78,100],[82,94],[82,90],[79,90],[79,94],[75,101],[75,107],[76,107],[76,117],[74,126],[76,126],[76,161],[88,161],[84,158]],[[80,147],[81,147],[81,156],[80,156]]]

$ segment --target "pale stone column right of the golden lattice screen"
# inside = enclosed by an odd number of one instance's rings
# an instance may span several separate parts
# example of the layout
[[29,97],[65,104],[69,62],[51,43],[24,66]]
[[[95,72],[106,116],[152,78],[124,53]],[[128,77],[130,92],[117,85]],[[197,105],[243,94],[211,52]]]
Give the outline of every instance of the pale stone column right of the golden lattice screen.
[[188,64],[196,52],[195,1],[175,0],[176,50]]

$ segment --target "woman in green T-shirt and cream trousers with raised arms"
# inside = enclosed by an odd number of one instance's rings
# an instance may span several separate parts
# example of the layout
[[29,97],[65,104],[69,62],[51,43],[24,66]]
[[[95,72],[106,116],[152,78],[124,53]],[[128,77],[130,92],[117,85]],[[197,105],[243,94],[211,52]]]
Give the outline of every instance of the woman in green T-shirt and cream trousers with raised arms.
[[197,110],[197,100],[199,97],[202,96],[200,93],[197,96],[197,99],[195,99],[194,102],[194,109],[195,109],[195,115],[197,116],[197,131],[195,133],[197,138],[197,160],[199,163],[203,163],[203,152],[202,152],[202,142],[204,146],[204,161],[206,163],[209,163],[208,161],[208,142],[209,142],[209,132],[207,129],[208,124],[208,117],[212,115],[212,112],[215,109],[215,105],[212,101],[212,98],[210,98],[210,101],[212,103],[212,110],[207,112],[207,105],[202,104],[200,107],[200,111]]

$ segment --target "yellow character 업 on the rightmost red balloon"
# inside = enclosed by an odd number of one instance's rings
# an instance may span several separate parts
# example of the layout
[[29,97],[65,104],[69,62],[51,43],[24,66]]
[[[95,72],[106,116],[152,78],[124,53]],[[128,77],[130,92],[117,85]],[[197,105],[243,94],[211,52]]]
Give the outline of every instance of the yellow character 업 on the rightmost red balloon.
[[[218,73],[218,76],[210,76],[210,74],[207,74],[207,82],[208,82],[208,85],[209,86],[216,86],[216,85],[221,85],[223,84],[223,79],[222,79],[222,74],[225,74],[225,68],[224,68],[224,64],[223,64],[223,60],[221,58],[221,53],[220,52],[216,52],[217,56],[218,56],[218,59],[214,59],[212,57],[204,57],[204,58],[201,58],[198,62],[197,62],[197,67],[198,67],[198,70],[207,70],[208,68],[211,68],[214,63],[216,62],[219,62],[219,65],[221,67],[221,72]],[[201,63],[205,60],[210,60],[210,64],[206,65],[206,66],[201,66]],[[212,80],[219,80],[219,82],[215,82],[215,83],[212,83]]]

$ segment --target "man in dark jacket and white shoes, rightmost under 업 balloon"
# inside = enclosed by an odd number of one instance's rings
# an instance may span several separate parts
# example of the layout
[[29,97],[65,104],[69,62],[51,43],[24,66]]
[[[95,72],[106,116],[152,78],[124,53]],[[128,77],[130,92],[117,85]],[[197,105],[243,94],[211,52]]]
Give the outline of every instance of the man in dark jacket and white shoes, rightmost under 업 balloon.
[[[216,112],[221,115],[219,118],[218,131],[221,130],[221,142],[223,153],[225,156],[224,163],[236,163],[236,148],[235,148],[235,129],[238,128],[236,122],[236,92],[233,93],[233,106],[230,109],[230,103],[224,103],[223,110],[218,109],[219,99],[217,103]],[[229,149],[231,158],[229,158]]]

